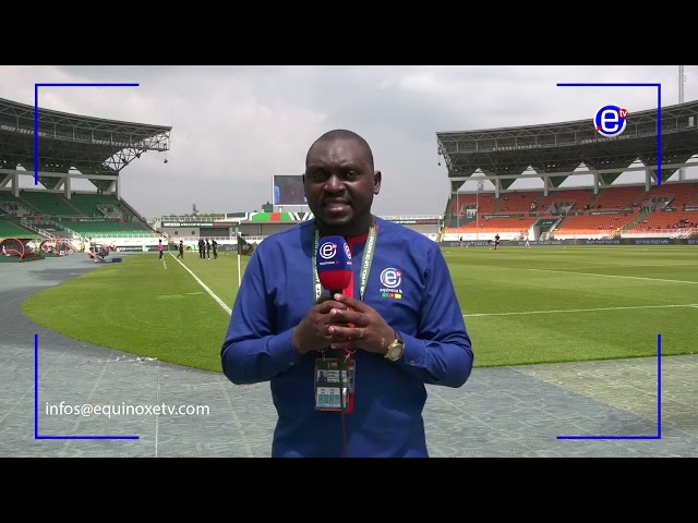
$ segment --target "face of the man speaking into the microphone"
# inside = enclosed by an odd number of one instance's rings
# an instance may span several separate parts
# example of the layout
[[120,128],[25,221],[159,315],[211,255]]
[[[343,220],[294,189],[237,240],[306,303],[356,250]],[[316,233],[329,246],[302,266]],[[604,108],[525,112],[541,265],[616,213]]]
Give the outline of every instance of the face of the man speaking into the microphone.
[[351,228],[371,214],[381,172],[364,147],[351,138],[322,141],[308,154],[303,186],[308,206],[327,228]]

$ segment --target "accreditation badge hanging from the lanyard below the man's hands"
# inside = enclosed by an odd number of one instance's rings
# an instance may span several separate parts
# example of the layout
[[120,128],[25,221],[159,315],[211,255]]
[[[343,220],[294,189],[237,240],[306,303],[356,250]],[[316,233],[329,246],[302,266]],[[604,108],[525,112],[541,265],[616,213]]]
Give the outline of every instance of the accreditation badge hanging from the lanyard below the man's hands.
[[353,358],[342,362],[347,368],[339,374],[339,361],[336,357],[315,360],[315,410],[347,412],[353,405],[356,362]]

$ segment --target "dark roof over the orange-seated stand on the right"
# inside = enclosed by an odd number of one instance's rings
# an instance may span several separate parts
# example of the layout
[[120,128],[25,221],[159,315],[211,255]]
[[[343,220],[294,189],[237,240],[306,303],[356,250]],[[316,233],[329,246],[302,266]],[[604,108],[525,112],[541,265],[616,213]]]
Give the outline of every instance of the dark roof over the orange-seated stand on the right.
[[[625,132],[611,138],[597,132],[592,115],[541,125],[438,132],[436,137],[454,191],[477,170],[508,188],[529,169],[551,175],[552,185],[559,186],[575,169],[587,167],[600,171],[610,185],[636,160],[657,167],[659,121],[657,108],[629,113]],[[698,154],[698,101],[662,107],[661,129],[665,181],[678,167],[664,166],[683,165]]]

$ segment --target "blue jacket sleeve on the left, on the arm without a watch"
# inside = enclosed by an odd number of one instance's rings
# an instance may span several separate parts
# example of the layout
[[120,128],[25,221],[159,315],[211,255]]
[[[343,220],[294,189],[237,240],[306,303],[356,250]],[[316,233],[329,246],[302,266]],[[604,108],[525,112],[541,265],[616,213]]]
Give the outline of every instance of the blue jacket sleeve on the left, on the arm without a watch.
[[274,297],[260,251],[245,268],[220,351],[222,372],[236,385],[268,381],[301,358],[291,343],[292,328],[274,332]]

